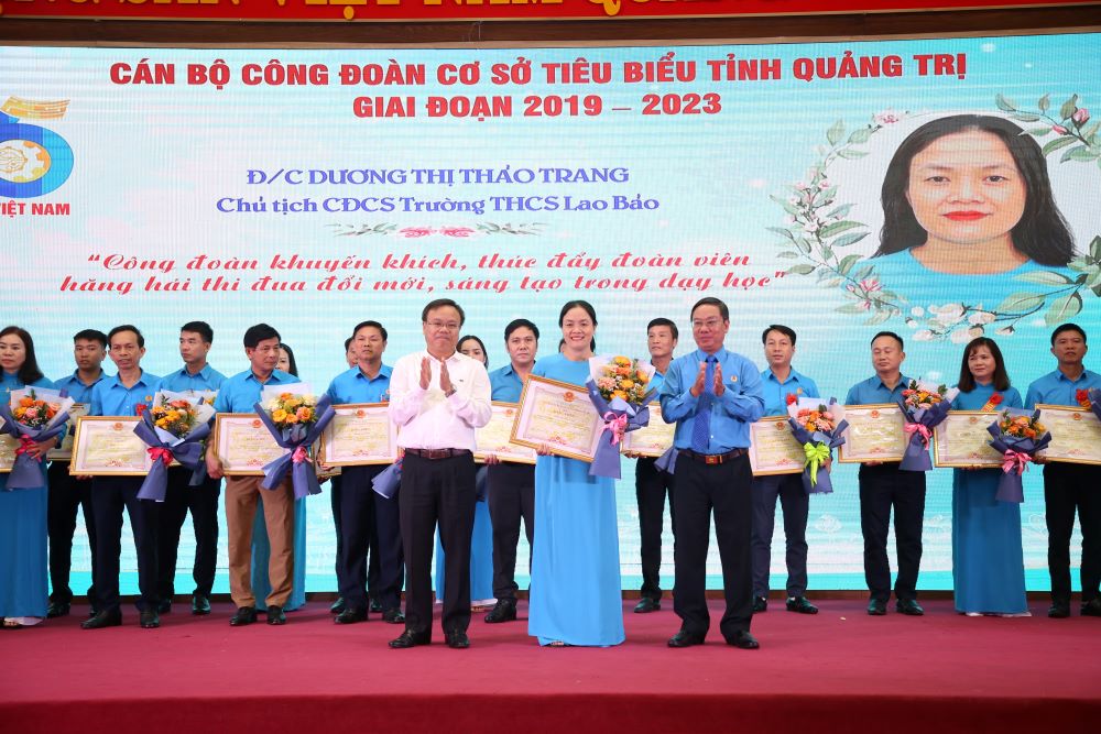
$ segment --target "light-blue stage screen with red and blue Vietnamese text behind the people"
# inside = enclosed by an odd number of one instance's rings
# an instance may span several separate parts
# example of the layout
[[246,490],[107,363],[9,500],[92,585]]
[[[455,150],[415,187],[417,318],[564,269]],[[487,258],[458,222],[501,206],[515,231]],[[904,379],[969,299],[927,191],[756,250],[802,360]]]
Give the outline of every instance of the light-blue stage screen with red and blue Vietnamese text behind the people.
[[[3,321],[33,333],[52,377],[73,369],[73,333],[123,322],[144,331],[149,371],[178,369],[178,327],[192,319],[214,326],[210,361],[233,374],[247,366],[243,330],[268,321],[321,391],[345,369],[342,341],[357,321],[386,326],[392,363],[423,347],[421,308],[440,296],[465,306],[464,331],[486,341],[491,369],[505,363],[502,330],[513,318],[534,320],[541,352],[554,352],[559,307],[573,298],[596,306],[599,352],[644,357],[647,321],[665,316],[682,329],[684,354],[694,348],[690,305],[718,296],[731,310],[728,348],[763,366],[762,330],[786,324],[799,335],[795,366],[826,396],[843,399],[872,374],[869,340],[880,329],[905,337],[906,374],[949,384],[962,343],[992,336],[1024,393],[1055,368],[1054,325],[1076,320],[1101,339],[1098,68],[1101,36],[1090,34],[4,47]],[[905,252],[873,258],[895,149],[959,113],[1009,119],[1043,146],[1072,260],[960,275]],[[633,473],[626,462],[618,491],[628,589],[639,583]],[[838,467],[833,484],[811,501],[811,589],[859,589],[855,471]],[[1028,585],[1046,589],[1035,469],[1025,495]],[[327,495],[309,501],[308,518],[309,590],[333,590]],[[923,588],[951,588],[951,472],[937,470]],[[668,530],[666,539],[668,588]],[[75,558],[86,570],[87,554]],[[181,568],[189,563],[185,549]],[[718,587],[716,551],[708,572]]]

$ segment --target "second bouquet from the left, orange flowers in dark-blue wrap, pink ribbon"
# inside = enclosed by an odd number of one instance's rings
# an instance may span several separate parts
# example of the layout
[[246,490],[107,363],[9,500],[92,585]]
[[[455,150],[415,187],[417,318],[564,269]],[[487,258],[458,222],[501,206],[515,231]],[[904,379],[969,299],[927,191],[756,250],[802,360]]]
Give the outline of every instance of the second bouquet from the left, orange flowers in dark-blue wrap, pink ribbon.
[[153,467],[145,475],[138,499],[164,502],[168,467],[176,461],[193,472],[204,467],[203,441],[210,435],[214,408],[201,397],[161,391],[152,406],[142,410],[134,434],[149,447]]

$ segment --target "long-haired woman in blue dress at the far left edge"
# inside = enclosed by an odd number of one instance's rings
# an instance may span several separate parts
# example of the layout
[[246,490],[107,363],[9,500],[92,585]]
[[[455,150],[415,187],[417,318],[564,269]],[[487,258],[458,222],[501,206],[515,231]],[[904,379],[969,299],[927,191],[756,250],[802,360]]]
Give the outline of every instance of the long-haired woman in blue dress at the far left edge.
[[[0,331],[0,399],[11,404],[11,394],[23,387],[53,387],[42,376],[34,357],[34,341],[18,326]],[[45,453],[56,439],[30,447],[41,457],[42,486],[8,489],[8,474],[0,474],[0,616],[9,629],[37,624],[46,616],[46,462]]]

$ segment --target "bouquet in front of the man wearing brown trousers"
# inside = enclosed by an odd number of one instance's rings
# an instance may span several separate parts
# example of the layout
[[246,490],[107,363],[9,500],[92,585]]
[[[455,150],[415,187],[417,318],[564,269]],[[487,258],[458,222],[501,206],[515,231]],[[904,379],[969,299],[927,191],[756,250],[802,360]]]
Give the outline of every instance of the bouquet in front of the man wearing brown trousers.
[[264,387],[261,403],[257,403],[257,415],[268,426],[268,430],[282,448],[288,449],[275,461],[264,467],[264,479],[260,483],[265,490],[274,490],[291,471],[291,482],[295,499],[321,491],[317,472],[310,465],[309,447],[321,436],[321,431],[333,420],[336,412],[327,396],[317,399],[306,383]]

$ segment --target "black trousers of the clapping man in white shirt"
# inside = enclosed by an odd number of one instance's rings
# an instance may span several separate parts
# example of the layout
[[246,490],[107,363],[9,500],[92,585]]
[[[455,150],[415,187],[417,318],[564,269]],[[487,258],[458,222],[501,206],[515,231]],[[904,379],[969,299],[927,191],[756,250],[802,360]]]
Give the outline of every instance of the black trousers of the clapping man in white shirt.
[[405,548],[405,627],[432,632],[432,551],[436,524],[444,547],[444,632],[470,626],[470,537],[475,527],[475,465],[469,453],[429,460],[406,453],[402,464],[402,540]]

